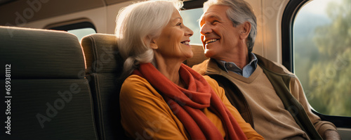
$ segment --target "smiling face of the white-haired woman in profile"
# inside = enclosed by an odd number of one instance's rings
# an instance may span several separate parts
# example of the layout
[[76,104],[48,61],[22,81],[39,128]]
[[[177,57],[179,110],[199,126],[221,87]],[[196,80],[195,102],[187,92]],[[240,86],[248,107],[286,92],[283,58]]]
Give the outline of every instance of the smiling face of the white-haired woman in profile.
[[171,20],[161,31],[160,36],[154,39],[157,44],[157,49],[154,49],[154,51],[163,58],[176,58],[183,61],[192,58],[190,37],[193,33],[192,30],[183,25],[183,18],[174,8]]

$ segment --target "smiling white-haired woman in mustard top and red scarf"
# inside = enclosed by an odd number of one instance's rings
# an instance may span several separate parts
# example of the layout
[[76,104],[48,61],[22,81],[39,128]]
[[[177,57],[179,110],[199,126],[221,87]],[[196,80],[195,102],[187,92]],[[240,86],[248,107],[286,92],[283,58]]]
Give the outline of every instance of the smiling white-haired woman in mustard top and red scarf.
[[263,139],[230,104],[217,82],[183,64],[193,32],[180,1],[143,1],[117,16],[126,59],[121,124],[133,139]]

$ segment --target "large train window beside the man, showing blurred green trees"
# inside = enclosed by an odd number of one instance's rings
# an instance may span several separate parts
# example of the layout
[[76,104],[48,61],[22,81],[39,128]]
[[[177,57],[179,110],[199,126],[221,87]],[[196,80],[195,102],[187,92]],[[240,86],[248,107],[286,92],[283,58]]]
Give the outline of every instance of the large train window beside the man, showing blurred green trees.
[[312,108],[325,115],[351,116],[350,21],[350,0],[310,1],[294,21],[294,72]]

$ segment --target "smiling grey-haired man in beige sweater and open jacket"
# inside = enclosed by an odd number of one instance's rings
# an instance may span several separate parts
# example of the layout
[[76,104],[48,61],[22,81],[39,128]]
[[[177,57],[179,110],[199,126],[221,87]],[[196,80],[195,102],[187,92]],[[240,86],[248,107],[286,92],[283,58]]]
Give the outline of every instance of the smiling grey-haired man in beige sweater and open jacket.
[[199,22],[205,56],[193,69],[210,75],[246,122],[265,139],[340,139],[314,115],[298,78],[283,65],[251,53],[256,16],[242,0],[209,0]]

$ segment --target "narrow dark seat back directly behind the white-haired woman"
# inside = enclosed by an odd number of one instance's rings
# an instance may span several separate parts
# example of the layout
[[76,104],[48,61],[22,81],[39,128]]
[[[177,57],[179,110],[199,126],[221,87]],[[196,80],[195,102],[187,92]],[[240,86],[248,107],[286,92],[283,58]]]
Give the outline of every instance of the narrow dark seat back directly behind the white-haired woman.
[[86,57],[86,77],[91,85],[95,122],[100,139],[126,139],[121,127],[119,80],[123,59],[119,56],[116,37],[91,34],[81,40]]

